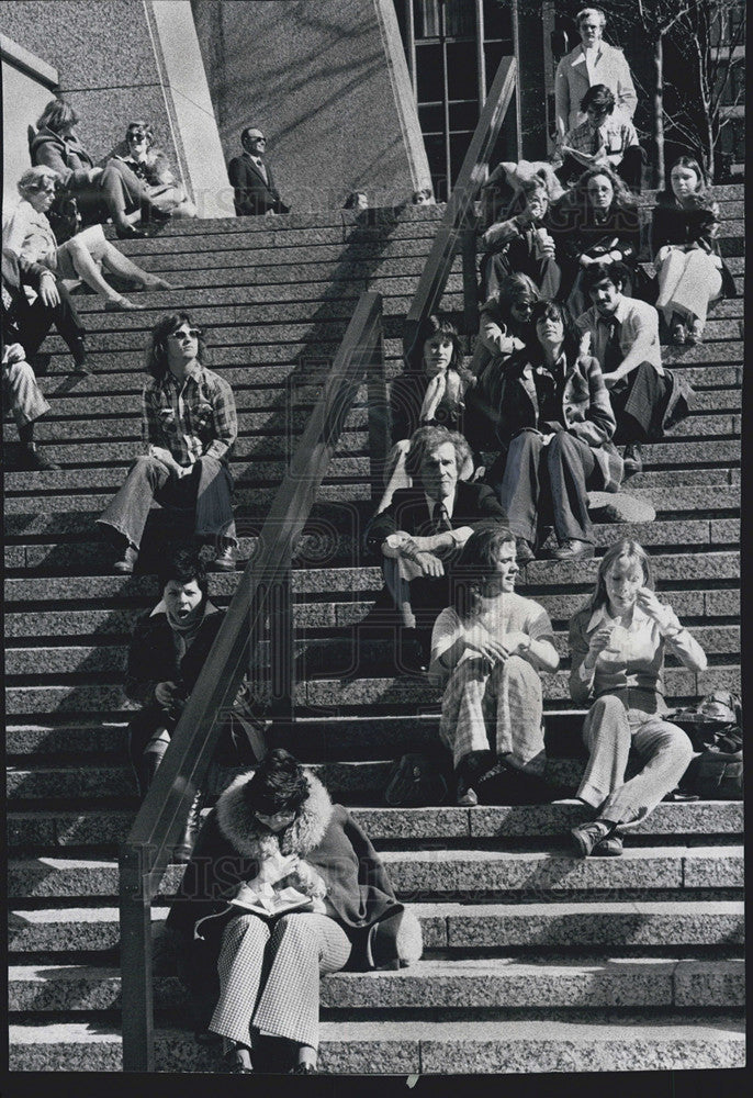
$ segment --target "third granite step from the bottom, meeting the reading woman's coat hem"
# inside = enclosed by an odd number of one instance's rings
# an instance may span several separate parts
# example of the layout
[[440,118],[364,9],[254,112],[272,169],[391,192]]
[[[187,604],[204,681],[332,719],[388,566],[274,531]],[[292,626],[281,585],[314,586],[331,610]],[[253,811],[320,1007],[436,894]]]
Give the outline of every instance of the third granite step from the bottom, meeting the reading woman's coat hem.
[[[426,950],[504,951],[510,946],[742,945],[744,907],[735,900],[630,903],[411,904]],[[21,953],[112,950],[120,941],[116,907],[12,909],[8,948]],[[153,927],[167,915],[153,907]]]

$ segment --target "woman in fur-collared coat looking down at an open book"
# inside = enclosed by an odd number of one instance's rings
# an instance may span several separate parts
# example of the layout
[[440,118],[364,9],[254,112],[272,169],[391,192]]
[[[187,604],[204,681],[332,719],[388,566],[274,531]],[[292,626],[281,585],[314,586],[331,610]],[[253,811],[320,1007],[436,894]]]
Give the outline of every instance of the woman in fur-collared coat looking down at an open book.
[[[248,910],[255,897],[279,904],[282,888],[301,894],[303,909],[274,919]],[[233,898],[246,909],[228,907]],[[220,797],[168,928],[178,935],[182,976],[209,1000],[204,1017],[224,1039],[234,1073],[254,1069],[265,1037],[284,1040],[293,1074],[314,1072],[319,975],[409,963],[422,951],[418,922],[395,899],[369,839],[282,749]]]

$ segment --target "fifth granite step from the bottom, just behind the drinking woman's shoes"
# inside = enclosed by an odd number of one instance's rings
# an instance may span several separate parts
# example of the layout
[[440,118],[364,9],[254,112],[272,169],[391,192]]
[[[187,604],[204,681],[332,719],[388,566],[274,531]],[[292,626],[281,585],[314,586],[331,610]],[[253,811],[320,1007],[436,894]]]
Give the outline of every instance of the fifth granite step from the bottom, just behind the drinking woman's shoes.
[[[411,718],[392,718],[405,725]],[[436,720],[436,718],[435,718]],[[585,809],[577,804],[494,806],[475,808],[363,808],[353,817],[381,849],[382,843],[561,838],[580,824]],[[21,853],[44,849],[110,847],[114,852],[127,834],[135,811],[80,809],[8,813],[8,845]],[[732,839],[743,833],[743,806],[734,800],[662,803],[632,830],[641,837],[710,836]],[[726,849],[726,848],[721,848]]]

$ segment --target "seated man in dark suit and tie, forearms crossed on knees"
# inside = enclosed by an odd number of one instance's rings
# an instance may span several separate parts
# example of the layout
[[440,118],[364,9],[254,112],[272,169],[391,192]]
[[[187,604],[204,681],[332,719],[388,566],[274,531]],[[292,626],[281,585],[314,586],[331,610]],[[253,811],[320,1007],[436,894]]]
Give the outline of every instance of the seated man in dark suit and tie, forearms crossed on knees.
[[400,613],[402,670],[425,670],[431,627],[451,602],[452,561],[484,518],[503,518],[494,492],[458,478],[468,444],[446,427],[419,427],[405,467],[414,488],[400,489],[372,518],[367,547],[382,554],[384,581]]

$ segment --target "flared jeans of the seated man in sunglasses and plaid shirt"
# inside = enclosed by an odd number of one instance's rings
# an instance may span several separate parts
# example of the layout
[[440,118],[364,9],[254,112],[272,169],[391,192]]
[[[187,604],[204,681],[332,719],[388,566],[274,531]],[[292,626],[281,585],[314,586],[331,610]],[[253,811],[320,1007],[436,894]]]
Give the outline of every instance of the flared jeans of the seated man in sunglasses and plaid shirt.
[[149,508],[192,508],[198,537],[225,537],[237,544],[231,491],[233,478],[224,462],[202,457],[188,477],[177,477],[158,458],[136,458],[123,488],[97,519],[141,548]]

